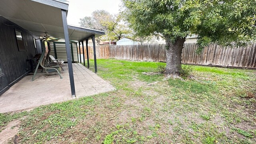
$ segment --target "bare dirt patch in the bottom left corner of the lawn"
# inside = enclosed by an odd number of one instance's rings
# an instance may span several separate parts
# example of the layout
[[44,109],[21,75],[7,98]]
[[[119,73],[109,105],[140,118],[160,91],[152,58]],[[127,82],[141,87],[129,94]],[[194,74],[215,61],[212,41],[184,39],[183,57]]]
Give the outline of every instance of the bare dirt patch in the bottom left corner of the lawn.
[[7,144],[19,131],[20,120],[14,120],[0,132],[0,144]]

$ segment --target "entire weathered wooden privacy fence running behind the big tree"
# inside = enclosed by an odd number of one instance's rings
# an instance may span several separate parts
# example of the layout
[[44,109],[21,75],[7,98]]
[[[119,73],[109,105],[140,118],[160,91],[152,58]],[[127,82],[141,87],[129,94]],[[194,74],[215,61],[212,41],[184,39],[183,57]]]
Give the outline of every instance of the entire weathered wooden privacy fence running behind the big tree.
[[[195,50],[197,48],[196,43],[184,44],[182,51],[183,64],[256,68],[256,43],[239,48],[210,44],[204,48],[201,54],[196,54]],[[89,58],[93,59],[93,47],[89,46],[88,51]],[[84,48],[84,52],[86,53],[86,48]],[[165,44],[96,46],[96,57],[166,62],[166,46]]]

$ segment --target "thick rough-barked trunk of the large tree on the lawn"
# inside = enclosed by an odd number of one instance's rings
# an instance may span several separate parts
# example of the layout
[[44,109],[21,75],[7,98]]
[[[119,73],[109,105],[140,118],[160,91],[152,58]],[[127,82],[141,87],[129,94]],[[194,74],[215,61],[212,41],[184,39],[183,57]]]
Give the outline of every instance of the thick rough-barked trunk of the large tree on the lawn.
[[177,38],[174,43],[166,38],[167,60],[166,74],[179,75],[181,68],[181,53],[185,38]]

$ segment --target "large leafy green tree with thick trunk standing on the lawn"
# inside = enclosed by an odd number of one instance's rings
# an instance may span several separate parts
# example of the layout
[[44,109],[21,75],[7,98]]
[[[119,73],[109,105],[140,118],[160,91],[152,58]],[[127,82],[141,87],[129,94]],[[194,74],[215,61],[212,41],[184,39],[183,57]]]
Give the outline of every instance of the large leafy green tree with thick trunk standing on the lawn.
[[166,40],[166,74],[178,75],[185,38],[198,36],[198,52],[209,43],[241,46],[255,40],[256,0],[122,0],[130,26]]

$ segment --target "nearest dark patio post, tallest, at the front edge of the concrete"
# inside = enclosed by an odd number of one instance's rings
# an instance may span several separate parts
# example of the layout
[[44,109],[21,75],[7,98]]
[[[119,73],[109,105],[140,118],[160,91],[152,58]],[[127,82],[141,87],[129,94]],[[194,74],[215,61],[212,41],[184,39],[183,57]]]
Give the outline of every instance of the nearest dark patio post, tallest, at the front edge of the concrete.
[[69,36],[68,36],[67,12],[66,10],[61,10],[61,12],[62,12],[62,22],[63,22],[63,29],[64,29],[65,44],[66,44],[66,52],[67,52],[67,58],[68,58],[68,73],[69,73],[69,79],[70,79],[71,94],[72,94],[72,98],[75,98],[76,90],[75,90],[71,50],[70,50],[70,43],[69,43]]

